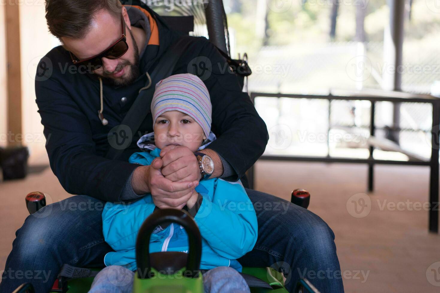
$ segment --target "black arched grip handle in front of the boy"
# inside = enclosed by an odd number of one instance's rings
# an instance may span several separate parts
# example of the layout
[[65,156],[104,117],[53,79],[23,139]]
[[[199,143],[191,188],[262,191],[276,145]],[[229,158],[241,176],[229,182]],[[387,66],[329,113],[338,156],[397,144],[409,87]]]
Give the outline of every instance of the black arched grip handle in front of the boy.
[[139,229],[136,239],[136,263],[140,269],[139,278],[150,277],[150,236],[154,229],[165,222],[180,224],[188,235],[189,251],[185,276],[195,277],[200,269],[202,258],[202,236],[197,224],[191,216],[183,210],[163,209],[152,213]]

